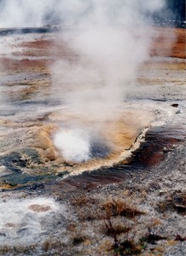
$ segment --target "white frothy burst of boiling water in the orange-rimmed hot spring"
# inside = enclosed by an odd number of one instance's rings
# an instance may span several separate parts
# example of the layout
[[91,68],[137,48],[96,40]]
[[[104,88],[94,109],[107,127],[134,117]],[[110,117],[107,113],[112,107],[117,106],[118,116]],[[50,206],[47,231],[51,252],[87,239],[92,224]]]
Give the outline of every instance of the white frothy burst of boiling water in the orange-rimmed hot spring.
[[55,134],[54,143],[65,160],[82,162],[90,159],[90,136],[87,131],[61,130]]

